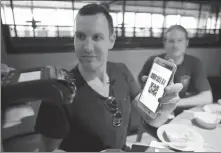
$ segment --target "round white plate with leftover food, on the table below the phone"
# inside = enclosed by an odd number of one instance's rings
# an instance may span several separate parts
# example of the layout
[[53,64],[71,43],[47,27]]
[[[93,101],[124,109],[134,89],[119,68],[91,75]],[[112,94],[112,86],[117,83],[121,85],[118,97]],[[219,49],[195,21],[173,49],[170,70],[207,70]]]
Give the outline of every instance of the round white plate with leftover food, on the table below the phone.
[[[177,145],[173,144],[173,142],[166,140],[165,131],[172,131],[172,132],[175,132],[178,134],[183,134],[184,132],[188,131],[191,133],[191,135],[193,136],[193,139],[195,141],[187,143],[186,146],[177,146]],[[182,124],[165,124],[165,125],[158,128],[157,136],[165,145],[167,145],[173,149],[177,149],[177,150],[181,150],[181,151],[195,151],[196,149],[203,147],[203,144],[204,144],[204,139],[201,136],[201,134],[199,134],[198,132],[196,132],[192,128],[182,125]],[[174,143],[176,143],[176,142],[174,142]]]

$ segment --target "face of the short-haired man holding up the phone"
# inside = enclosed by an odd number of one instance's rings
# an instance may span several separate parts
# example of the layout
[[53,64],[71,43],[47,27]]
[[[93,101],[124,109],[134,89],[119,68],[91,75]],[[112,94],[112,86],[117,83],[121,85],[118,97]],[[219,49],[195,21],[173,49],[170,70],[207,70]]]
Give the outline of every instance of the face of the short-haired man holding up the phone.
[[87,71],[96,71],[106,64],[108,50],[113,48],[115,35],[110,34],[108,21],[101,13],[77,15],[74,46],[79,62]]

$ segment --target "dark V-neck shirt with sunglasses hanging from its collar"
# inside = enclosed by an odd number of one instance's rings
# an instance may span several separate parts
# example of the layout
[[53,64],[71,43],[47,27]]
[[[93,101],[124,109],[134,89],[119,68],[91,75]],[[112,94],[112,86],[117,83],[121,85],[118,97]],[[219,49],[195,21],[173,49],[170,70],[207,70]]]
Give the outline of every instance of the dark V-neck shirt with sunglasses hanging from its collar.
[[[94,91],[74,68],[77,93],[66,106],[69,115],[57,105],[42,103],[35,130],[49,138],[63,139],[60,149],[68,152],[98,152],[107,148],[122,149],[126,142],[131,116],[131,101],[140,93],[129,69],[120,63],[107,63],[110,96],[114,96],[123,115],[120,127],[112,124],[113,114],[105,108],[106,97]],[[70,117],[70,122],[67,117]]]

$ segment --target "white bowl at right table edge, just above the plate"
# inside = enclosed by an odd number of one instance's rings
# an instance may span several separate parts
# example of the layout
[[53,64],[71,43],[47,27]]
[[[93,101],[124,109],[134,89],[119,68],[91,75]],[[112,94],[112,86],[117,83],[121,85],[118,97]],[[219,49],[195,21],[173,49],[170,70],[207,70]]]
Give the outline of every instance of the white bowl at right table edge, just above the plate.
[[214,129],[220,123],[221,117],[209,112],[195,112],[195,122],[202,128]]

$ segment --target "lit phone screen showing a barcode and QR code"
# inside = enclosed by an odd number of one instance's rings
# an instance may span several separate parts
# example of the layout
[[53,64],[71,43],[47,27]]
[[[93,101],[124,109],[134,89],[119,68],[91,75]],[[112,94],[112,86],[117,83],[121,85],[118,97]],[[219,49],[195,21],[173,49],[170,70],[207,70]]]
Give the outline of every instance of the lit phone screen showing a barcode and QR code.
[[172,70],[153,63],[151,72],[140,96],[140,102],[153,113],[155,113],[158,108],[158,99],[163,96],[164,88],[167,86],[171,75]]

